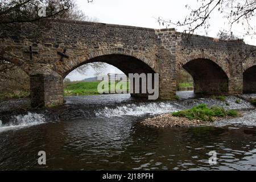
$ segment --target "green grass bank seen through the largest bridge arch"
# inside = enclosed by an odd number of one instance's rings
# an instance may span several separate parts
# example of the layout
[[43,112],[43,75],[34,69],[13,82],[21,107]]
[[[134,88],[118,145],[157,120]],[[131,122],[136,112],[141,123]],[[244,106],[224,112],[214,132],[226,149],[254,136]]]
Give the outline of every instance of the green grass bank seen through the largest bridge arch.
[[[64,96],[89,96],[98,95],[98,84],[100,82],[71,82],[64,85]],[[115,82],[115,85],[117,82]],[[129,90],[129,83],[127,82],[127,90]],[[109,92],[110,92],[110,82],[109,82]],[[111,90],[117,91],[117,90]]]

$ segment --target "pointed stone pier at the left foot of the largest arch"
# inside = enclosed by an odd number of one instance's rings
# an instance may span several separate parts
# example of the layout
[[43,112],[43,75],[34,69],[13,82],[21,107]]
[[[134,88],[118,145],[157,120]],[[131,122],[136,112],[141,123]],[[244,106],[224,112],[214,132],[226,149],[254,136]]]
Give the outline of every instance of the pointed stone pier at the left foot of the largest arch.
[[49,68],[30,75],[32,107],[52,107],[63,104],[63,78]]

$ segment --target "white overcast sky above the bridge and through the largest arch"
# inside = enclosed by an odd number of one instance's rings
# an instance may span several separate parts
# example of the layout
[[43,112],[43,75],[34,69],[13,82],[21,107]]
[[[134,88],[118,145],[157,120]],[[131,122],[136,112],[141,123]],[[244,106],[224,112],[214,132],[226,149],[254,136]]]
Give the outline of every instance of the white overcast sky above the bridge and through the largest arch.
[[[196,0],[93,0],[88,3],[87,0],[77,0],[78,7],[90,17],[96,17],[99,22],[110,24],[123,24],[129,26],[147,27],[147,28],[165,28],[159,26],[157,18],[160,16],[166,20],[171,19],[174,22],[183,20],[189,11],[185,5],[189,4],[191,7],[197,7]],[[256,26],[256,19],[252,21],[253,26]],[[183,31],[181,27],[177,28],[178,31]],[[222,15],[217,11],[214,12],[210,19],[210,28],[208,35],[216,37],[219,30],[229,30],[228,24]],[[232,28],[233,34],[240,36],[245,40],[245,43],[256,46],[256,37],[245,36],[241,32],[243,27],[235,25]],[[201,28],[196,32],[199,35],[206,35],[205,30]],[[117,68],[109,66],[104,71],[105,73],[121,73]],[[86,77],[94,76],[92,70],[89,70],[86,75],[79,73],[71,73],[68,78],[71,80],[81,80]]]

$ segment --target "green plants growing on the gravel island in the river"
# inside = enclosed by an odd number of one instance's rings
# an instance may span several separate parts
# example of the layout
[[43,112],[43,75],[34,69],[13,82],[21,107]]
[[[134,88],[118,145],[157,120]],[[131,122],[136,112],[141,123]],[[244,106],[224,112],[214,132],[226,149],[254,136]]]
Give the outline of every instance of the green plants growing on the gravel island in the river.
[[214,121],[214,117],[237,117],[236,110],[225,110],[223,107],[207,107],[205,104],[200,104],[192,109],[185,109],[172,113],[175,117],[185,117],[188,119],[200,119],[202,121]]

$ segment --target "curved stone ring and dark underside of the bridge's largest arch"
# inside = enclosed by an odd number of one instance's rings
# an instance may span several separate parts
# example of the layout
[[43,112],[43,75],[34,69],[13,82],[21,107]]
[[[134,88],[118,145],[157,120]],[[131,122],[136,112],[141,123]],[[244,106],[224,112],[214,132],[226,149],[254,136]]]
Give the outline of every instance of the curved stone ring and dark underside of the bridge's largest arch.
[[[117,64],[115,64],[113,57],[123,59],[123,61],[119,61]],[[111,59],[111,60],[108,61],[108,59]],[[92,51],[86,55],[77,56],[75,59],[66,61],[64,64],[64,67],[62,67],[61,70],[58,70],[57,72],[59,72],[60,75],[65,77],[68,75],[68,73],[70,73],[71,71],[80,67],[83,64],[100,61],[100,62],[114,65],[114,67],[117,67],[124,73],[127,73],[125,70],[126,68],[123,66],[123,64],[130,64],[130,60],[131,62],[133,62],[133,65],[129,65],[129,67],[133,68],[134,66],[133,72],[131,73],[134,73],[134,71],[136,71],[135,67],[137,64],[143,65],[148,70],[147,73],[150,72],[149,69],[152,70],[150,73],[152,72],[158,73],[158,65],[156,64],[156,57],[151,57],[145,52],[133,51],[133,50],[124,49],[124,48],[103,49],[98,51]],[[136,64],[135,64],[135,60],[137,60]]]

